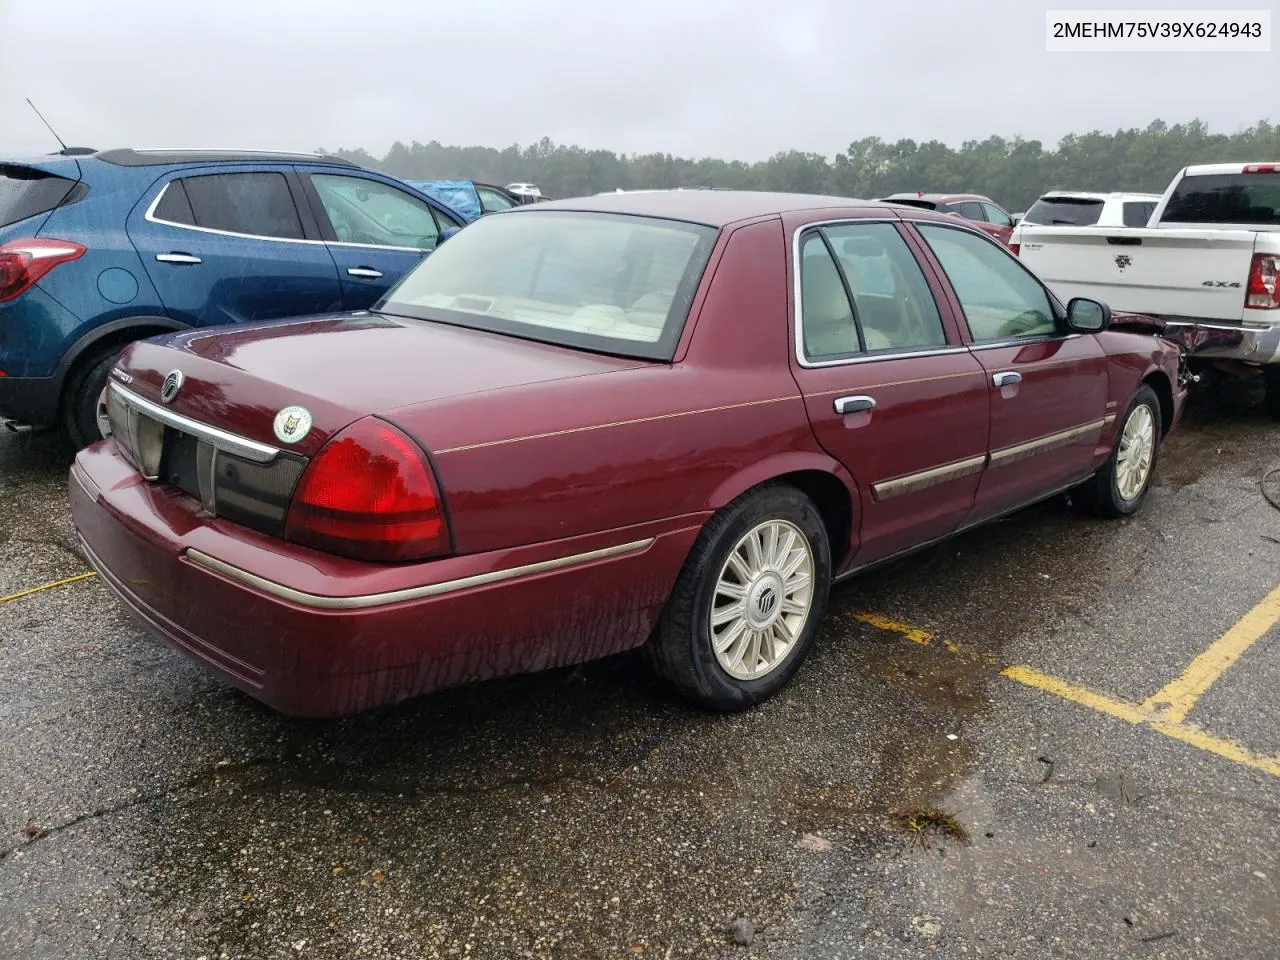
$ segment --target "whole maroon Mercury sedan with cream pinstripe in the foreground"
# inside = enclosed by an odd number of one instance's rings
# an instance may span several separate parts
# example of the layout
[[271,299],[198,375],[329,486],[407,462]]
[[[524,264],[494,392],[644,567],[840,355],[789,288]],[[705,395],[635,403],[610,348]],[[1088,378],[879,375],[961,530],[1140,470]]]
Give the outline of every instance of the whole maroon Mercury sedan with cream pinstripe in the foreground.
[[86,556],[294,714],[646,645],[777,691],[832,581],[1068,488],[1138,509],[1174,346],[951,216],[608,195],[486,216],[372,311],[131,346]]

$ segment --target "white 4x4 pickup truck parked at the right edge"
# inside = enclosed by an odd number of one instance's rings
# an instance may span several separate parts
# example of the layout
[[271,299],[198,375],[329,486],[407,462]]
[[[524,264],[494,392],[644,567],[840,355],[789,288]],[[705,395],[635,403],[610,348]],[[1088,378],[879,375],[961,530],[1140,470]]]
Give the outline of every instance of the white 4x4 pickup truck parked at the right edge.
[[1064,302],[1156,317],[1193,372],[1265,376],[1280,417],[1280,163],[1188,166],[1144,228],[1027,224],[1020,241]]

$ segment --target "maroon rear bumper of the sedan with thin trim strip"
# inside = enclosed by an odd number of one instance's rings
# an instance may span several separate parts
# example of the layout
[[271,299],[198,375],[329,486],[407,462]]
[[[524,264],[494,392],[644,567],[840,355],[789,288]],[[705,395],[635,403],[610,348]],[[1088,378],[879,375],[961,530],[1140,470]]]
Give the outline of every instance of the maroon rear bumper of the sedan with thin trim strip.
[[378,567],[209,520],[110,440],[70,502],[86,556],[157,636],[289,714],[332,717],[643,644],[700,522]]

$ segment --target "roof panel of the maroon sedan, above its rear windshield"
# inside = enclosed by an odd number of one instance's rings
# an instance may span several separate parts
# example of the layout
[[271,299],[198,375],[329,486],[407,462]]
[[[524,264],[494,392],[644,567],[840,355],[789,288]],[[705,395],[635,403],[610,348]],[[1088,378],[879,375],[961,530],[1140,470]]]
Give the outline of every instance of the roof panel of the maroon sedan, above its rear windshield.
[[[552,200],[511,212],[575,210],[582,212],[657,216],[667,220],[700,223],[708,227],[726,227],[739,220],[751,220],[759,216],[781,216],[804,210],[850,210],[856,207],[876,209],[888,206],[888,204],[870,200],[809,193],[767,193],[763,191],[740,189],[663,189]],[[915,210],[913,215],[918,212],[920,211]],[[503,216],[507,215],[506,212],[503,214]]]

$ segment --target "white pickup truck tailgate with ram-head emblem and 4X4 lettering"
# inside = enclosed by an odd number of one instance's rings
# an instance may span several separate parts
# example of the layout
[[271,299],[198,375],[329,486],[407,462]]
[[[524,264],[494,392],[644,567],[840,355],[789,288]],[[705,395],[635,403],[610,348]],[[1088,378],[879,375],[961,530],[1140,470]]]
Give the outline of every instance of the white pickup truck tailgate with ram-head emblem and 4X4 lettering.
[[1252,230],[1037,227],[1020,257],[1064,302],[1239,324],[1257,241]]

